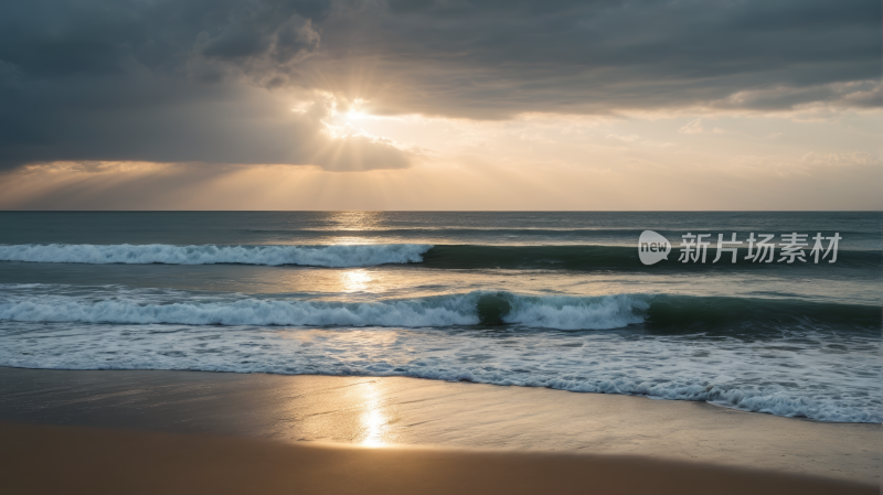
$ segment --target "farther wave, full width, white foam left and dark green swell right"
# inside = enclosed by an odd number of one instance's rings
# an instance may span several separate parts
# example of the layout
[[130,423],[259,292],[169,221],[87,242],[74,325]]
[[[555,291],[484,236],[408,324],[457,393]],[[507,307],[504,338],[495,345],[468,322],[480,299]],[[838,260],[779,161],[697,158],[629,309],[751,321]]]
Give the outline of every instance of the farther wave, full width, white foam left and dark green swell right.
[[[637,247],[623,246],[474,246],[426,244],[375,244],[331,246],[171,246],[151,245],[12,245],[0,246],[0,261],[67,262],[67,263],[128,263],[128,265],[300,265],[312,267],[347,268],[389,263],[422,263],[435,269],[545,269],[573,271],[683,271],[683,270],[749,270],[804,268],[880,269],[883,256],[876,251],[845,251],[838,254],[836,265],[797,261],[758,263],[745,259],[742,249],[736,263],[725,254],[716,263],[715,249],[709,249],[704,263],[678,262],[678,250],[672,250],[668,262],[651,267],[638,259]],[[778,252],[778,251],[777,251]],[[809,259],[809,255],[805,256]],[[778,257],[777,257],[778,258]]]

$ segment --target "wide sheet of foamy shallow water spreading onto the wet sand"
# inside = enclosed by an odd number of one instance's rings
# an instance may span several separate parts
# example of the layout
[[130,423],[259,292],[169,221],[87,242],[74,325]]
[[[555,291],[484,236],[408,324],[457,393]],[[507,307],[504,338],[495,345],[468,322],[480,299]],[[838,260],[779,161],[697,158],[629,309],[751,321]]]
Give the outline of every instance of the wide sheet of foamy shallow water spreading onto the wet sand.
[[860,347],[838,356],[808,345],[769,358],[766,342],[727,345],[689,337],[624,338],[608,332],[562,337],[444,329],[0,322],[0,366],[409,376],[709,401],[819,421],[879,423],[883,415],[873,374],[879,357]]

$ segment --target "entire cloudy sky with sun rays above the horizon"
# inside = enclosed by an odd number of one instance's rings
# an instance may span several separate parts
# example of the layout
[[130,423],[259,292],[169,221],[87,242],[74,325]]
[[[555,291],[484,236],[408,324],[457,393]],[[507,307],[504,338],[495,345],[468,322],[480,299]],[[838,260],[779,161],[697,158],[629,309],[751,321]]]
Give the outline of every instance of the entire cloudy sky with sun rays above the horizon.
[[883,209],[877,0],[0,3],[0,209]]

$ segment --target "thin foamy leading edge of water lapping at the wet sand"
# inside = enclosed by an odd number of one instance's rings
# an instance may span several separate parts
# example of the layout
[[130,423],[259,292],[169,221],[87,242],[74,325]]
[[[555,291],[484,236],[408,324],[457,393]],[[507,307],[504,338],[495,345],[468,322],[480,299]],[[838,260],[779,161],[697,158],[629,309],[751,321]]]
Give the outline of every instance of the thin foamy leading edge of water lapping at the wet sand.
[[[748,412],[760,412],[787,418],[807,418],[823,422],[858,422],[880,423],[883,413],[880,412],[879,400],[868,394],[849,394],[829,397],[826,394],[795,390],[775,384],[765,386],[714,385],[700,376],[690,377],[631,377],[629,373],[620,370],[593,370],[584,372],[595,376],[594,379],[573,379],[565,376],[547,376],[546,374],[525,373],[526,370],[512,366],[510,369],[483,369],[481,366],[468,366],[462,363],[450,363],[436,366],[423,364],[406,364],[406,362],[390,357],[377,357],[370,364],[353,363],[337,358],[330,362],[313,361],[311,356],[302,356],[301,352],[290,352],[285,356],[276,353],[242,359],[241,356],[225,355],[223,352],[199,353],[191,346],[180,351],[170,352],[148,347],[151,336],[162,336],[162,332],[155,332],[142,336],[138,353],[131,353],[123,362],[108,362],[108,355],[118,357],[115,352],[96,354],[83,351],[68,353],[36,353],[34,348],[29,352],[14,352],[0,349],[0,365],[22,368],[42,369],[168,369],[188,372],[220,372],[220,373],[263,373],[275,375],[323,375],[323,376],[404,376],[412,378],[468,381],[476,384],[490,384],[500,386],[520,386],[535,388],[551,388],[583,394],[615,394],[642,396],[666,400],[689,400],[710,402],[717,406],[738,409]],[[61,340],[67,337],[60,335]],[[147,341],[147,343],[145,343]],[[415,347],[417,342],[408,342]],[[82,345],[82,343],[81,343]],[[156,345],[156,343],[152,343]],[[126,342],[129,347],[130,343]],[[269,347],[263,342],[262,347]],[[12,352],[10,352],[12,351]],[[319,351],[319,349],[317,349]],[[339,347],[334,348],[336,355],[341,354]],[[668,351],[668,349],[666,349]],[[647,352],[647,351],[645,351]],[[656,349],[656,353],[662,354]],[[234,358],[235,357],[235,358]],[[544,356],[547,361],[555,361],[558,356]],[[575,368],[579,363],[571,362]],[[642,363],[641,368],[648,368],[648,363]],[[671,373],[671,370],[669,370]]]

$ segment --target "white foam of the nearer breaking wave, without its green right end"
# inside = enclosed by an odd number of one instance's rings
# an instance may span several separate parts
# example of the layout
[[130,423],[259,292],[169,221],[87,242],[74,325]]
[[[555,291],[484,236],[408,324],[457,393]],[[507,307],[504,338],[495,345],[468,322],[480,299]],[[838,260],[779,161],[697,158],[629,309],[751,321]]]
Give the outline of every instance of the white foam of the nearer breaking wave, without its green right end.
[[[511,301],[510,323],[545,329],[607,330],[640,323],[646,297],[525,297],[507,292],[470,292],[433,298],[343,303],[328,301],[240,299],[221,302],[156,303],[151,298],[92,301],[70,295],[10,297],[0,300],[0,320],[20,322],[177,323],[187,325],[345,325],[450,326],[480,322],[477,303],[485,297]],[[147,295],[147,294],[146,294]]]

